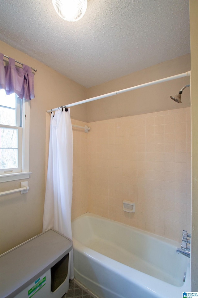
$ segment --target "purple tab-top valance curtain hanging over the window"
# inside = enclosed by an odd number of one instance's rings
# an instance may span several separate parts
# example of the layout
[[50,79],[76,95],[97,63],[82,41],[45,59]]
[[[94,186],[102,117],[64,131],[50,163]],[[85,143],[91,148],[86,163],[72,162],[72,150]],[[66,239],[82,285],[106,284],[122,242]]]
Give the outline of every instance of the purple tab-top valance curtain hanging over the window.
[[9,58],[4,66],[3,54],[0,53],[0,89],[6,94],[16,93],[21,99],[34,98],[34,74],[31,67],[23,64],[23,69],[15,66],[15,60]]

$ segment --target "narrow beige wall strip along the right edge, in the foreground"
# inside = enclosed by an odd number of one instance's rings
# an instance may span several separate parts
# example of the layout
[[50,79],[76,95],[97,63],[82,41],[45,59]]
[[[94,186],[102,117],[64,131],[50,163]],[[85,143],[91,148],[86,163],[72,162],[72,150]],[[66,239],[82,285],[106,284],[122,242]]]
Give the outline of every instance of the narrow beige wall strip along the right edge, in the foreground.
[[190,0],[192,110],[192,258],[191,291],[198,291],[198,1]]

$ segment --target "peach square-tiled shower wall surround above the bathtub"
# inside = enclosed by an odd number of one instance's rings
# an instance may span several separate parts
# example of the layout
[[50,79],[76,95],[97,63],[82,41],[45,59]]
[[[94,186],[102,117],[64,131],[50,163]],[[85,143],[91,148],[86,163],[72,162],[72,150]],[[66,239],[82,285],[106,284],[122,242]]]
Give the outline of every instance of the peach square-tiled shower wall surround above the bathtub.
[[[180,242],[190,231],[190,107],[88,126],[73,128],[72,219],[89,211]],[[124,212],[123,200],[136,212]]]

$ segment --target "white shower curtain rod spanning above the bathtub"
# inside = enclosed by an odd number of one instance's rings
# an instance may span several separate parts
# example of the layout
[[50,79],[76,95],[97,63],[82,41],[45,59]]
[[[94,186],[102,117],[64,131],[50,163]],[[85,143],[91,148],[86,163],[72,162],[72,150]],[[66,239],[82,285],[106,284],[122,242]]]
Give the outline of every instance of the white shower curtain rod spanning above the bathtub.
[[[173,75],[171,77],[167,77],[167,78],[164,78],[164,79],[159,79],[157,81],[152,81],[152,82],[149,82],[149,83],[137,85],[137,86],[126,88],[126,89],[122,89],[122,90],[119,90],[119,91],[114,91],[114,92],[111,92],[111,93],[106,93],[106,94],[99,95],[99,96],[96,96],[96,97],[92,97],[92,98],[81,100],[80,102],[73,102],[73,103],[70,103],[69,105],[65,105],[65,106],[61,106],[61,107],[62,108],[69,108],[71,106],[81,105],[82,103],[92,102],[92,101],[97,100],[97,99],[101,99],[101,98],[105,98],[105,97],[117,95],[117,94],[128,92],[128,91],[131,91],[131,90],[135,90],[135,89],[139,89],[139,88],[143,88],[143,87],[147,87],[147,86],[151,86],[151,85],[163,83],[163,82],[166,82],[166,81],[171,81],[171,80],[174,80],[174,79],[188,77],[190,75],[190,73],[191,73],[191,71],[187,71],[187,72],[184,72],[183,74]],[[47,113],[51,113],[53,111],[57,111],[58,109],[60,109],[60,106],[57,107],[57,108],[51,109],[51,110],[47,110]]]

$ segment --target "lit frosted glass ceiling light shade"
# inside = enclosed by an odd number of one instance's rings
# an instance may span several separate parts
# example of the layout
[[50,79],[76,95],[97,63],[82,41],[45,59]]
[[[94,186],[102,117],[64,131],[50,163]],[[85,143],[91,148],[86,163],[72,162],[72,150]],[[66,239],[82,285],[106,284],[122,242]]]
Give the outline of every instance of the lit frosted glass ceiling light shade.
[[80,20],[87,9],[87,0],[52,0],[58,15],[70,22]]

